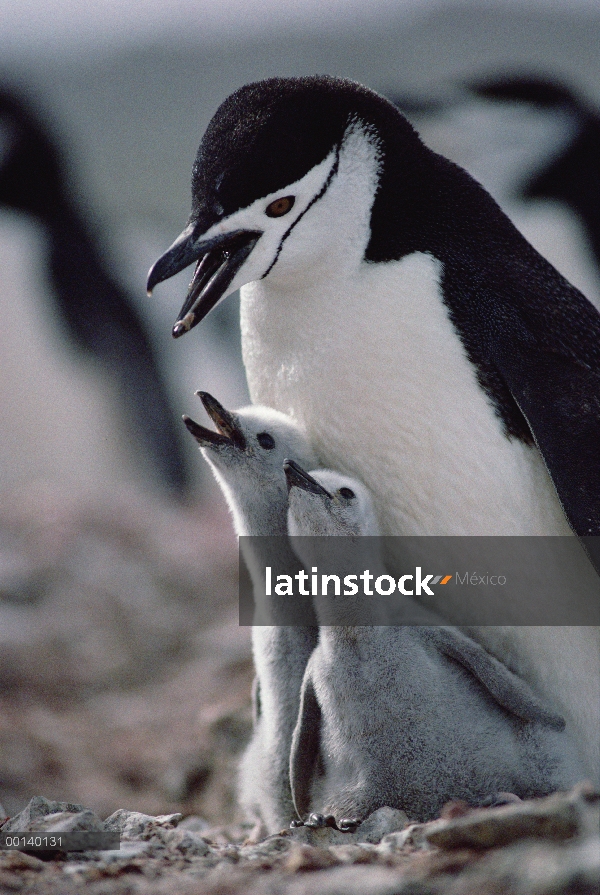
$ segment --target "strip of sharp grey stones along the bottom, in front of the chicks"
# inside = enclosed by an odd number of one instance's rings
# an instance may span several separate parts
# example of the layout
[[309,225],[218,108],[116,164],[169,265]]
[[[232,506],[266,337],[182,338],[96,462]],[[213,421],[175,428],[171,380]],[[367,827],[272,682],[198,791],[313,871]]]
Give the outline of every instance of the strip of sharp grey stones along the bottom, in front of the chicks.
[[354,834],[284,830],[259,843],[240,827],[199,817],[119,810],[104,822],[82,806],[36,798],[12,830],[118,831],[110,851],[0,852],[0,889],[70,895],[596,895],[600,794],[568,794],[498,808],[446,806],[411,824],[382,808]]

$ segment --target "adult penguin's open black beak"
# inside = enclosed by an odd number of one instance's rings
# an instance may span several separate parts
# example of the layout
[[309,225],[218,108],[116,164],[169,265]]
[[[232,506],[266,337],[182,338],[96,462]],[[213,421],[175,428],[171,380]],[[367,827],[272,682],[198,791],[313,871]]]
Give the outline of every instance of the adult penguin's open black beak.
[[[190,223],[148,273],[148,295],[196,261],[186,300],[173,327],[178,339],[203,320],[226,293],[227,287],[262,236],[257,230],[234,230],[202,239],[198,223]],[[204,232],[204,228],[202,228]]]

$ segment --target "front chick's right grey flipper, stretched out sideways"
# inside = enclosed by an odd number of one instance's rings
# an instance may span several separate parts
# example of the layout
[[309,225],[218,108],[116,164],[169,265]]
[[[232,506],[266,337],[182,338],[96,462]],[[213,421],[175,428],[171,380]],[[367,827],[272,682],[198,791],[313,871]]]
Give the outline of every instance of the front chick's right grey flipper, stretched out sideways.
[[442,626],[422,628],[421,631],[439,652],[469,671],[503,709],[522,721],[564,730],[564,718],[545,708],[525,681],[470,637],[456,628]]

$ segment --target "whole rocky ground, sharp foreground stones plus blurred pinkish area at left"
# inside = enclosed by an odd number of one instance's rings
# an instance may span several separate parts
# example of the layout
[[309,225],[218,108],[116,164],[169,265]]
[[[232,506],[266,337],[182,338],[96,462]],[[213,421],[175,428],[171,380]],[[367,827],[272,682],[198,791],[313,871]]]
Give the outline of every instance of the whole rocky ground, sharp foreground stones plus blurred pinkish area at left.
[[[0,502],[1,831],[112,830],[121,848],[0,851],[0,892],[587,895],[599,797],[260,843],[235,807],[250,730],[249,631],[221,505],[31,484]],[[39,794],[43,793],[45,798]]]

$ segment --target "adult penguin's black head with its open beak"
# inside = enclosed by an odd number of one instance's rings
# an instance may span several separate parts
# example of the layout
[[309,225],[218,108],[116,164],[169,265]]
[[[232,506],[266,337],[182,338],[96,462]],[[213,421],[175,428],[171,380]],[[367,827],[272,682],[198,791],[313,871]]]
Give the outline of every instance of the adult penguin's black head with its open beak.
[[[387,146],[393,144],[392,155],[406,172],[419,151],[424,151],[392,103],[352,81],[328,76],[271,78],[248,84],[225,100],[208,126],[194,163],[189,224],[148,278],[151,291],[198,262],[175,336],[195,326],[227,294],[264,236],[269,218],[281,217],[285,222],[283,242],[288,226],[293,229],[322,198],[336,176],[336,153],[355,122],[381,147],[380,185],[387,173]],[[293,185],[327,159],[328,169],[315,183],[310,201],[295,202]],[[378,193],[371,211],[374,234],[381,217],[379,199]],[[232,223],[229,229],[215,227],[233,221],[232,216],[257,202],[264,207],[260,205],[260,214],[251,220],[235,227]],[[271,267],[276,262],[274,252]],[[261,268],[260,276],[267,276],[271,267]]]

